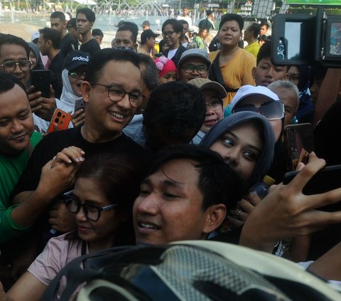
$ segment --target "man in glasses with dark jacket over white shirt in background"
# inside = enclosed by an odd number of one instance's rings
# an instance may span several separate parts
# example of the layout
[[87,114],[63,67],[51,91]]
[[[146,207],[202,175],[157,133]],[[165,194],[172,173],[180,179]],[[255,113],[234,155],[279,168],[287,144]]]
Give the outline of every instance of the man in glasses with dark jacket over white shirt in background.
[[162,36],[168,49],[163,51],[163,56],[173,60],[175,66],[178,65],[181,55],[186,48],[180,43],[180,36],[183,33],[183,24],[175,19],[168,19],[162,24]]

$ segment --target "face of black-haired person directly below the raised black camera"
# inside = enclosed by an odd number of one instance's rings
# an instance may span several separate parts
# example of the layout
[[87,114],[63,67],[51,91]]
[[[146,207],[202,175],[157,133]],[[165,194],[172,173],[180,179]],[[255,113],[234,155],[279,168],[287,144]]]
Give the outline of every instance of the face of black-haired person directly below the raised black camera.
[[288,80],[286,66],[273,65],[270,58],[262,58],[256,68],[252,70],[256,85],[267,87],[276,80]]

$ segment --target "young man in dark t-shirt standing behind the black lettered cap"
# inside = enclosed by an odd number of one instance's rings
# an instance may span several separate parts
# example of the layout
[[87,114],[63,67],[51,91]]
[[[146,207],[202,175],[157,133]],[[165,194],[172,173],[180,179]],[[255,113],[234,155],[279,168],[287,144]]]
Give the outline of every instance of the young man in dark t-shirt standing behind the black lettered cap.
[[96,39],[91,34],[92,26],[96,20],[94,12],[87,7],[78,9],[76,19],[77,31],[82,36],[82,45],[80,46],[80,51],[90,53],[90,56],[92,56],[92,54],[101,49]]

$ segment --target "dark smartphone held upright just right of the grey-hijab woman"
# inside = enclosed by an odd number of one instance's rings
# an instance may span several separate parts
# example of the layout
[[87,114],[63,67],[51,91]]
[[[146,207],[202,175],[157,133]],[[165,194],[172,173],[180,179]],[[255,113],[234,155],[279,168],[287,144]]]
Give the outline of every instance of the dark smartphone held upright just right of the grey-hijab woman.
[[298,162],[308,163],[309,153],[313,151],[313,125],[298,123],[286,125],[283,130],[286,170],[296,169]]

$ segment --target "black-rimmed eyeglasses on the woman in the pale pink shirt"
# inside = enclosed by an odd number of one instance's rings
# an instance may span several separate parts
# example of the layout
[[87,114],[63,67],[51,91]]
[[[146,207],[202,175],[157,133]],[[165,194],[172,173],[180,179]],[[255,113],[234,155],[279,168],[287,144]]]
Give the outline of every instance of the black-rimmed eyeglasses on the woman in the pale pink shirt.
[[82,204],[79,199],[76,198],[75,195],[72,194],[73,191],[69,191],[63,195],[63,201],[68,211],[71,213],[77,214],[80,211],[80,208],[83,208],[83,212],[90,221],[98,221],[101,216],[102,211],[107,211],[109,209],[115,208],[119,206],[119,204],[107,205],[104,207],[100,207],[94,204],[84,203]]

